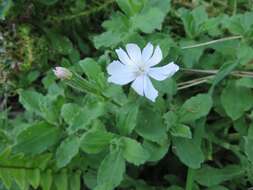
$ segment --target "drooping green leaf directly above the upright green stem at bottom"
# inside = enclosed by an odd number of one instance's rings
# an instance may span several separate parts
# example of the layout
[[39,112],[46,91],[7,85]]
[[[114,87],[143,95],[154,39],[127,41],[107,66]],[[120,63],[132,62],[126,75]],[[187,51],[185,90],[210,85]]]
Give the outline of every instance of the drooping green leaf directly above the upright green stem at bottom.
[[173,143],[181,162],[193,169],[200,168],[205,158],[198,142],[194,139],[177,137],[173,138]]

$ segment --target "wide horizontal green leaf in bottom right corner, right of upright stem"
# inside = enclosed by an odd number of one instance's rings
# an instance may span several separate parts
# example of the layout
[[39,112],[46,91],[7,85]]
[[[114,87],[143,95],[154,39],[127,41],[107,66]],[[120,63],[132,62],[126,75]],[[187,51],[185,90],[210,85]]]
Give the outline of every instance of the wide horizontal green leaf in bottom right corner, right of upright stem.
[[211,187],[241,176],[245,171],[237,165],[228,165],[221,169],[204,166],[196,171],[195,179],[203,186]]

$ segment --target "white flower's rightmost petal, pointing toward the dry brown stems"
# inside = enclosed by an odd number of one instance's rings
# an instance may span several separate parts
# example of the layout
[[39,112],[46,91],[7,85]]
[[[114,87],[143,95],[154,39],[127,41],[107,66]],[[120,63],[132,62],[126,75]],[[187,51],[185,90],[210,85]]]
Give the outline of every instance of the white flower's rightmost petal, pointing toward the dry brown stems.
[[178,70],[179,66],[174,64],[174,62],[171,62],[163,67],[150,68],[148,74],[152,78],[162,81],[174,75]]

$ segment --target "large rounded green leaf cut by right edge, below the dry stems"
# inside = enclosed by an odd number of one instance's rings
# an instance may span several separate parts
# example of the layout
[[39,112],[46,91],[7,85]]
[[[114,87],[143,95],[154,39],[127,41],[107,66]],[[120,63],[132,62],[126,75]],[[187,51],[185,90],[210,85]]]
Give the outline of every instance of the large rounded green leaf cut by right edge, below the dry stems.
[[221,93],[221,104],[226,114],[231,119],[236,120],[253,106],[252,95],[250,89],[236,86],[234,82],[230,82]]

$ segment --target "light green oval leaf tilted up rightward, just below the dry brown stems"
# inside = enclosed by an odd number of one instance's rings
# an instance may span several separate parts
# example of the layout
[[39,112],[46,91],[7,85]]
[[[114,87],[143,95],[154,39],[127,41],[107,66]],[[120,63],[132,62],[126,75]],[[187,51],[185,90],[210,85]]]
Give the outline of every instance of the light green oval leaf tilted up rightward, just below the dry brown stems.
[[206,116],[213,105],[210,94],[198,94],[188,99],[179,110],[181,122],[191,122]]

